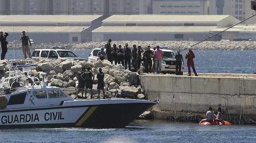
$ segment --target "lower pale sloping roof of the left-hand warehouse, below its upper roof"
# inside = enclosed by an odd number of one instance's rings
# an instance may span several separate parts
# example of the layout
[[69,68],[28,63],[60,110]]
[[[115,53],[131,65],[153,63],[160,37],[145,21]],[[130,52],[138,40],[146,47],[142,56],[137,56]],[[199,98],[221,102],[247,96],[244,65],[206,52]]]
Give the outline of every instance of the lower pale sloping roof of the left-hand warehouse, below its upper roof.
[[1,31],[3,32],[20,32],[26,31],[26,33],[60,33],[60,32],[81,32],[82,30],[88,28],[88,26],[1,26]]

